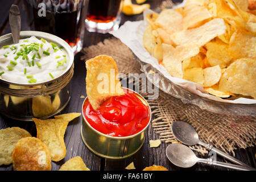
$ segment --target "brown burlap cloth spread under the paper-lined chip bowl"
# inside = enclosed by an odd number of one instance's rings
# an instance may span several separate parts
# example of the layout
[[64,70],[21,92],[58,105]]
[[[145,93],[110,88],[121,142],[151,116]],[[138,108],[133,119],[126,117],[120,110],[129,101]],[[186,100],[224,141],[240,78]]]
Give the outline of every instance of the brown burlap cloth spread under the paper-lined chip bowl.
[[[88,60],[97,55],[109,55],[118,65],[119,73],[141,73],[141,65],[135,59],[130,49],[119,39],[105,39],[104,42],[82,50],[82,60]],[[237,115],[222,115],[201,110],[159,90],[156,100],[148,100],[154,115],[150,129],[162,142],[173,142],[175,139],[171,131],[172,123],[185,121],[191,124],[199,138],[206,143],[213,144],[220,150],[232,152],[236,148],[255,146],[256,118],[238,117]],[[201,146],[192,146],[193,150],[207,154]]]

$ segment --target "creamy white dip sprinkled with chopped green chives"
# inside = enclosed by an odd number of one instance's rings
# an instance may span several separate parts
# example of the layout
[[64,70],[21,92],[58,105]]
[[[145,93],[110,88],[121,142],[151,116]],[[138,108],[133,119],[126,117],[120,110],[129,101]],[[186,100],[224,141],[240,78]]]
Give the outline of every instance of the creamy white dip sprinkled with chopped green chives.
[[0,78],[21,84],[49,81],[67,69],[68,61],[59,45],[31,36],[0,49]]

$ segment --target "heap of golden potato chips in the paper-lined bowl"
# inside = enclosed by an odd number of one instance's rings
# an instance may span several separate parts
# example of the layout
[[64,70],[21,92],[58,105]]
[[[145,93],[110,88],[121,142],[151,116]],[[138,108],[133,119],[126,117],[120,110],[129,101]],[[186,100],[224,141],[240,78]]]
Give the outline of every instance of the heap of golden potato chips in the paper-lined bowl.
[[182,8],[148,14],[144,47],[172,77],[214,96],[256,99],[255,4],[188,0]]

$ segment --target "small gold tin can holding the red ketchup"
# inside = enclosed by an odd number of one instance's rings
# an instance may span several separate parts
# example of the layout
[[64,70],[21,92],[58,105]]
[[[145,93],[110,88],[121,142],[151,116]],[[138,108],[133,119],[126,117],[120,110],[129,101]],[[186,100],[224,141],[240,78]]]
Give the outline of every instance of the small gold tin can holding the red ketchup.
[[86,121],[83,106],[89,102],[86,97],[84,103],[82,104],[82,127],[81,127],[81,137],[85,146],[92,151],[94,154],[106,158],[106,159],[123,159],[135,154],[142,147],[148,126],[151,121],[151,109],[148,102],[137,92],[131,89],[123,88],[125,92],[134,93],[144,105],[149,108],[150,119],[147,125],[134,135],[127,137],[111,137],[109,135],[103,134],[97,131],[89,122]]

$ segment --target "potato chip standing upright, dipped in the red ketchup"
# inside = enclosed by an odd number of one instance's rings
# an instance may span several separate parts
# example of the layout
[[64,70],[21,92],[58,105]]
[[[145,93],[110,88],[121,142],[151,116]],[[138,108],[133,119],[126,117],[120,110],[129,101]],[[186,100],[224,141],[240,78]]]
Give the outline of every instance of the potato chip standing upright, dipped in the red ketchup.
[[100,55],[86,61],[86,93],[94,110],[112,96],[124,94],[114,59]]

